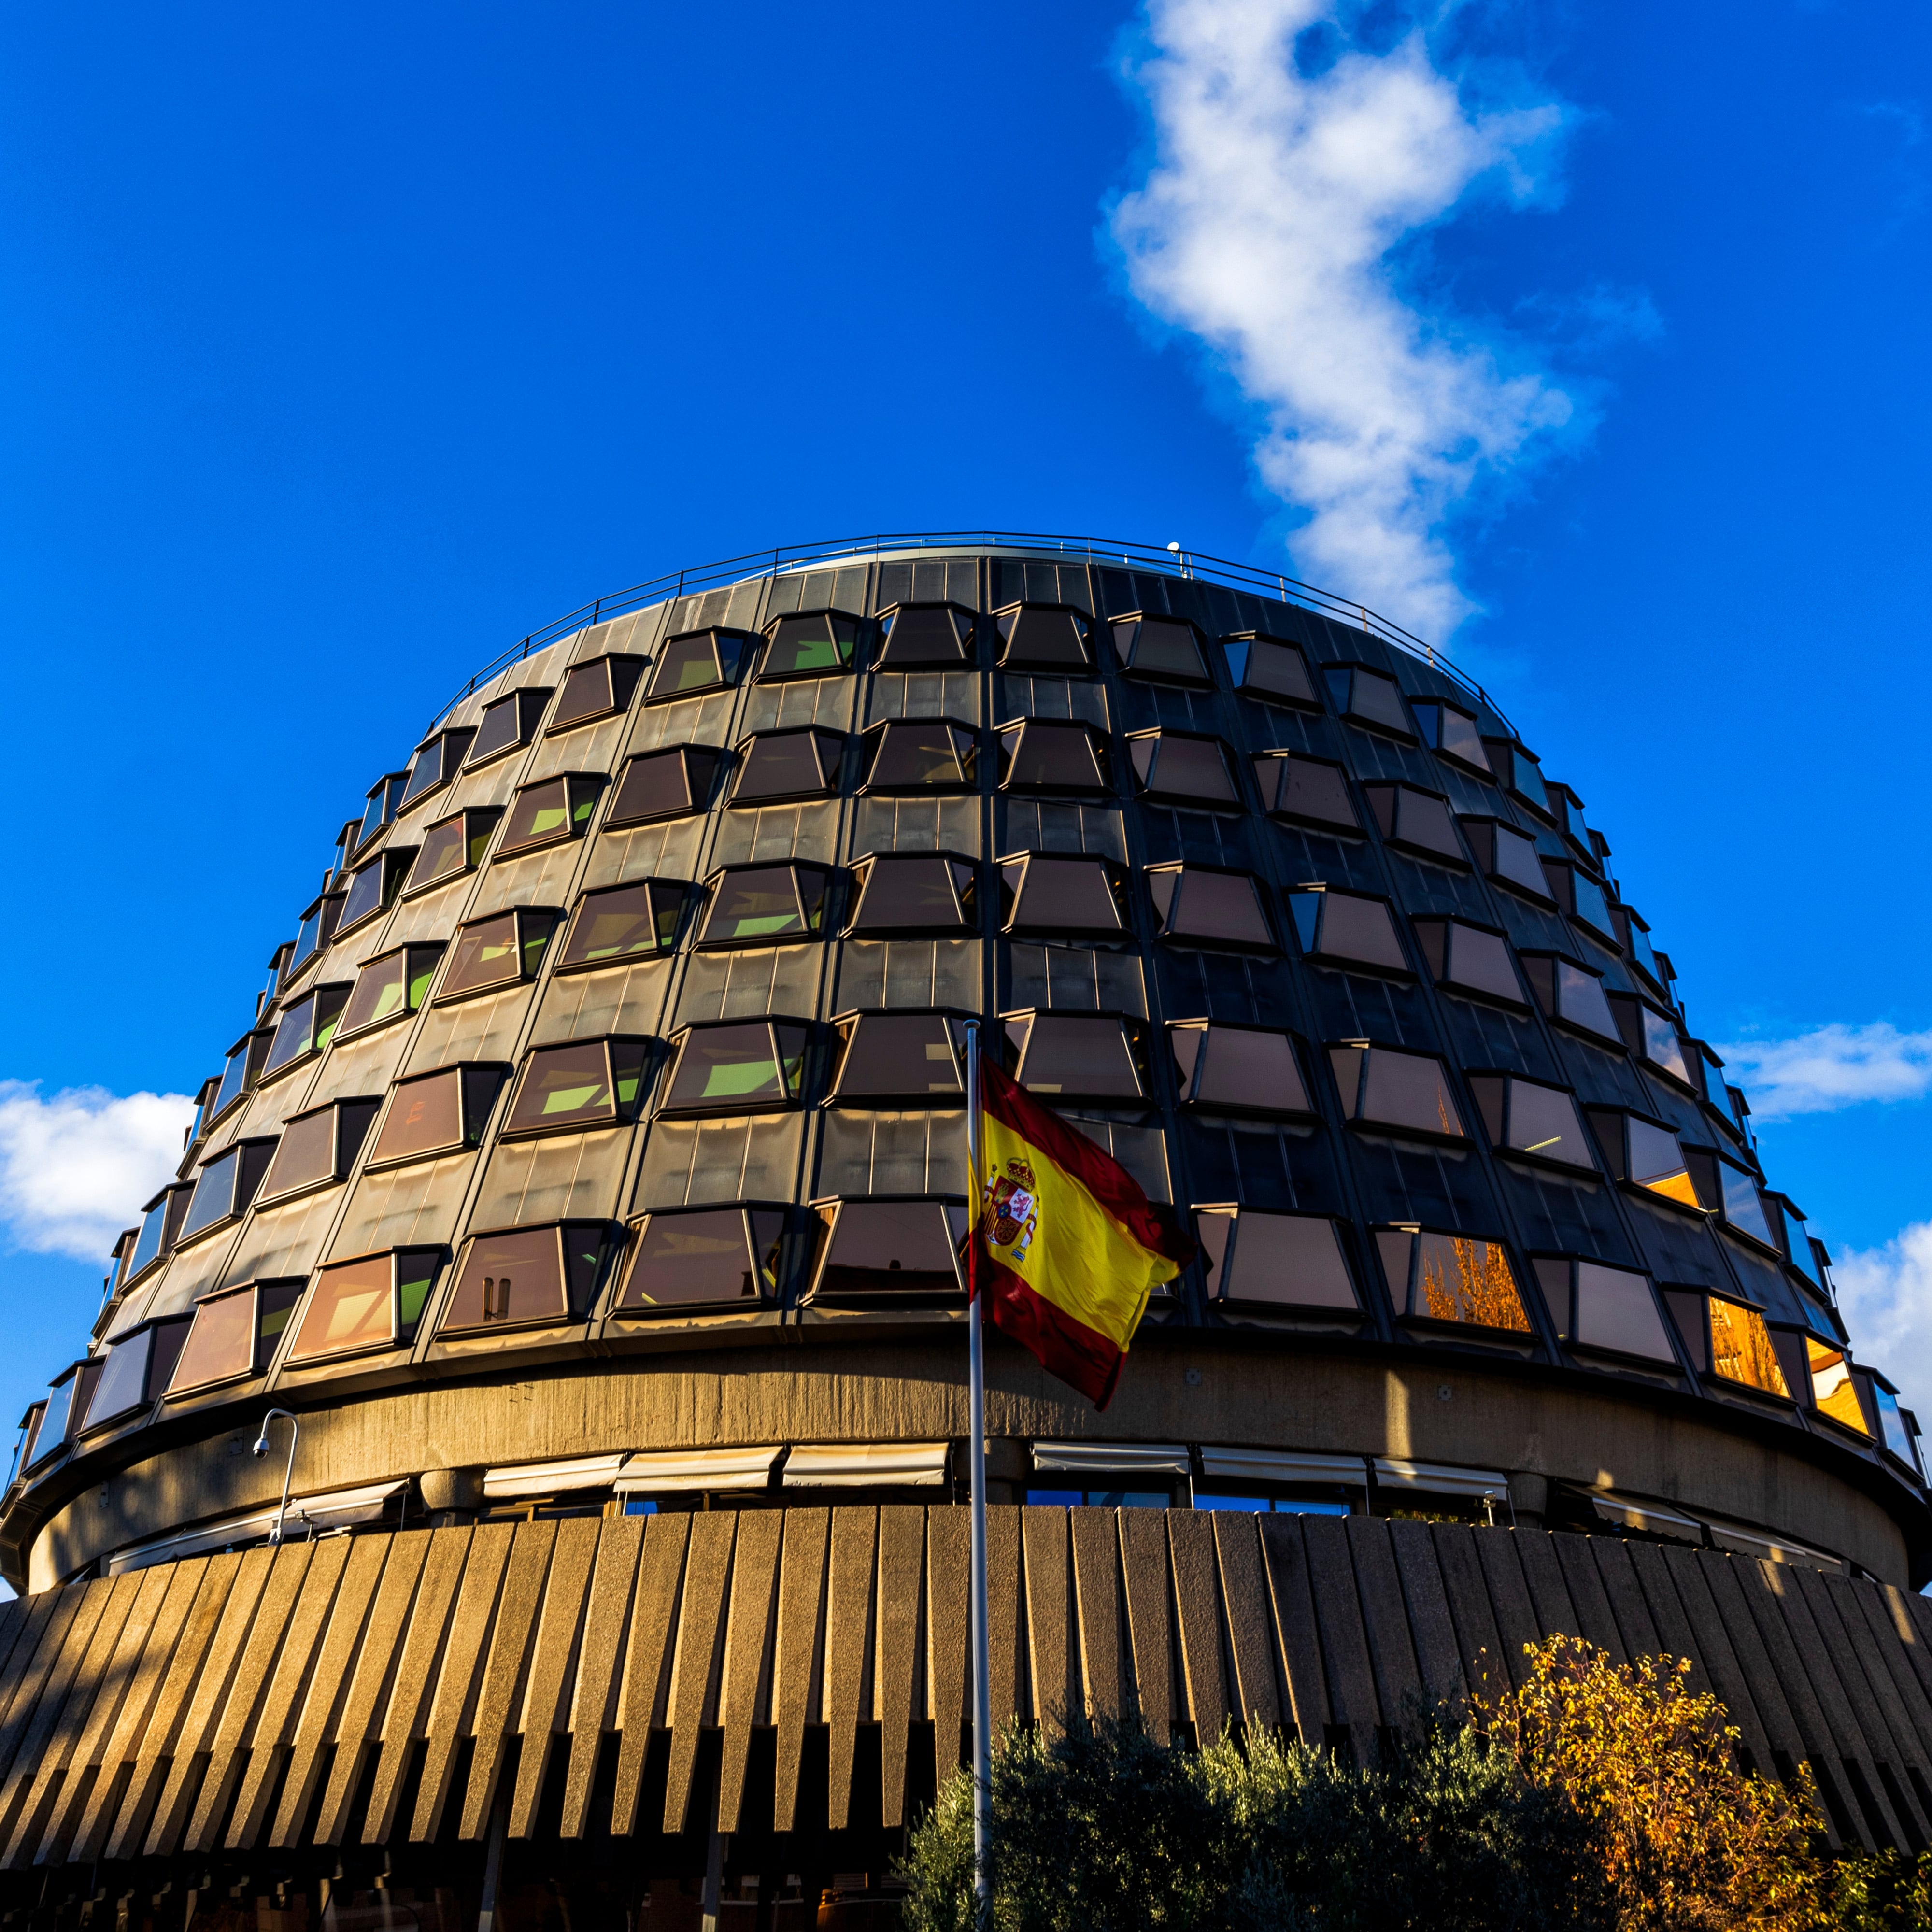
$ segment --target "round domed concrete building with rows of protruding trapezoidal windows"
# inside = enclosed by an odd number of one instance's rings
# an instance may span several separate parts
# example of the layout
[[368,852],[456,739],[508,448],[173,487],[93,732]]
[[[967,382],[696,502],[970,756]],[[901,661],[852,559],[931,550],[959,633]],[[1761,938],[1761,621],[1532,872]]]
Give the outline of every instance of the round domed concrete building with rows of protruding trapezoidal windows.
[[[1333,1662],[1308,1716],[1293,1604],[1320,1648],[1335,1565],[1364,1605],[1393,1565],[1432,1689],[1403,1551],[1492,1548],[1457,1524],[1590,1532],[1605,1604],[1696,1549],[1922,1582],[1917,1424],[1633,893],[1486,692],[1238,566],[879,539],[526,639],[263,935],[25,1418],[14,1710],[70,1652],[149,1702],[52,1791],[0,1729],[0,1857],[622,1835],[639,1793],[690,1833],[694,1789],[724,1833],[900,1824],[964,1669],[968,1018],[1200,1242],[1105,1412],[991,1341],[993,1501],[1036,1505],[995,1511],[999,1710],[1395,1721]],[[1911,1843],[1888,1748],[1843,1830]]]

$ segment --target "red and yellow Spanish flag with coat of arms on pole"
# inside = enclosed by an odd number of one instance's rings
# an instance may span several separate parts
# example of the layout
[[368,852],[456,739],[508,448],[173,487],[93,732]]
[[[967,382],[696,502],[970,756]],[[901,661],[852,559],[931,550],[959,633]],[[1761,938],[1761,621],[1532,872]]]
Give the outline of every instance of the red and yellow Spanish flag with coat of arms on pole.
[[1111,1153],[991,1059],[980,1095],[972,1293],[1003,1335],[1105,1408],[1150,1291],[1194,1260],[1194,1242]]

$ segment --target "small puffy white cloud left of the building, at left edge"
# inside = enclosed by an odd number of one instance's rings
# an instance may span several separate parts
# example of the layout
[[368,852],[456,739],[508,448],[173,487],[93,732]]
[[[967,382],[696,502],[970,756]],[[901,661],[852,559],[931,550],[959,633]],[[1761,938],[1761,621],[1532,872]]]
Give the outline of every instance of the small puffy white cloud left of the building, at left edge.
[[21,1248],[106,1262],[114,1236],[170,1180],[195,1103],[185,1094],[0,1080],[0,1221]]

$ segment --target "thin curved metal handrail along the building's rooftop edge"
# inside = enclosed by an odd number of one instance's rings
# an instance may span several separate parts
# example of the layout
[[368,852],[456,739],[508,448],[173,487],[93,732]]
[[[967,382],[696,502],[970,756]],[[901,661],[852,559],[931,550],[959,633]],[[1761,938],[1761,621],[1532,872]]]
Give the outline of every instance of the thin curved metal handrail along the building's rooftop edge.
[[1298,605],[1320,616],[1341,618],[1379,638],[1383,643],[1406,651],[1410,657],[1420,657],[1434,670],[1459,684],[1478,703],[1486,705],[1495,717],[1503,719],[1505,724],[1509,723],[1503,707],[1474,678],[1457,670],[1435,645],[1426,643],[1362,603],[1337,597],[1333,591],[1318,589],[1314,583],[1302,583],[1298,578],[1283,576],[1281,572],[1258,570],[1254,564],[1236,564],[1225,556],[1208,556],[1202,551],[1186,551],[1177,543],[1155,547],[1115,537],[1063,537],[1032,529],[925,529],[881,531],[871,537],[831,537],[817,543],[775,543],[769,551],[750,551],[744,556],[726,556],[715,564],[665,572],[611,597],[597,597],[556,618],[553,624],[545,624],[543,630],[529,632],[529,636],[493,657],[435,715],[429,730],[433,732],[466,697],[473,696],[479,686],[489,684],[502,670],[508,670],[510,665],[518,665],[533,651],[543,651],[591,624],[601,624],[612,616],[626,616],[632,611],[670,597],[688,597],[730,583],[746,583],[752,578],[779,578],[838,562],[877,562],[906,551],[1014,551],[1024,556],[1049,556],[1065,562],[1080,560],[1088,566],[1111,566],[1119,562],[1128,570],[1151,570],[1173,578],[1204,578],[1209,583],[1223,583],[1229,589],[1275,597],[1279,603]]

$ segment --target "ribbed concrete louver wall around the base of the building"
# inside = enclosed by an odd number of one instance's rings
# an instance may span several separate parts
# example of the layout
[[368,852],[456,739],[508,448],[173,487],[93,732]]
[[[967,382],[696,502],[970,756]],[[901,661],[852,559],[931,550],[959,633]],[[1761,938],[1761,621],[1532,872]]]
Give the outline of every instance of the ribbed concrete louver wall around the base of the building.
[[[713,1762],[723,1832],[891,1828],[908,1752],[933,1752],[916,1787],[956,1762],[966,1565],[964,1509],[840,1507],[367,1534],[48,1590],[0,1609],[0,1864],[477,1839],[498,1803],[522,1837],[547,1774],[566,1839],[676,1832]],[[1895,1588],[1542,1530],[991,1513],[995,1723],[1138,1710],[1161,1737],[1235,1719],[1368,1752],[1549,1631],[1694,1658],[1754,1766],[1812,1764],[1833,1839],[1932,1839],[1932,1605]]]

